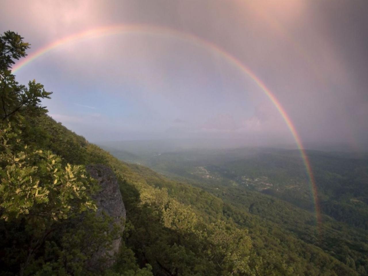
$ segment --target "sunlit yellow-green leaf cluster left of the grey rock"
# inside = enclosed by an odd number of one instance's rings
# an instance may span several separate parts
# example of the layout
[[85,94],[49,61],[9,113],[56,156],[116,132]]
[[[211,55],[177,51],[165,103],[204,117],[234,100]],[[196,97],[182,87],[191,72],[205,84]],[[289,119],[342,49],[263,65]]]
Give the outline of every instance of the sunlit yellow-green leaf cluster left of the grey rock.
[[[7,131],[8,132],[8,131]],[[89,197],[93,186],[82,166],[67,164],[50,151],[12,152],[7,132],[1,142],[8,151],[0,154],[0,199],[2,219],[24,218],[35,226],[67,219],[70,213],[96,210]]]

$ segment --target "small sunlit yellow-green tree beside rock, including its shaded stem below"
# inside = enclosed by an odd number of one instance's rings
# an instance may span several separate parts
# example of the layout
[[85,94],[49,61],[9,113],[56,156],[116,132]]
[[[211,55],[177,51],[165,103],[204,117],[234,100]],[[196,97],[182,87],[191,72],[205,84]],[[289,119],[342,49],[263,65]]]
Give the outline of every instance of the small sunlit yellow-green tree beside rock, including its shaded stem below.
[[22,227],[28,237],[21,251],[23,275],[60,221],[96,210],[91,194],[97,187],[91,185],[84,166],[64,167],[62,159],[50,151],[20,146],[20,134],[10,123],[0,131],[0,219],[9,227]]

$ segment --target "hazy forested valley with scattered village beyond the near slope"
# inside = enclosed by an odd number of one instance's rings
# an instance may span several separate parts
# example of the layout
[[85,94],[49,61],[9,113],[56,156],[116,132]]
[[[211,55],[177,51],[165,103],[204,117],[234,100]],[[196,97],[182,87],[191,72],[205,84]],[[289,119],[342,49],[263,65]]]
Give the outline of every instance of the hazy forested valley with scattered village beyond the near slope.
[[[116,153],[119,156],[120,151]],[[322,215],[321,224],[316,224],[308,178],[296,151],[256,148],[178,151],[141,156],[140,162],[221,198],[232,206],[229,216],[238,225],[248,227],[250,233],[257,226],[267,224],[273,226],[266,227],[290,231],[287,236],[316,245],[365,275],[364,199],[367,187],[363,177],[367,161],[321,152],[315,152],[311,159],[316,168],[320,201],[323,205],[339,202],[337,206],[346,206],[346,213],[355,207],[348,221]],[[334,170],[335,174],[329,170]],[[336,179],[339,181],[333,185]],[[360,187],[355,195],[342,190],[357,190],[355,187]],[[339,196],[338,201],[335,196]],[[247,216],[238,215],[240,210]],[[326,213],[326,210],[322,209],[322,212]]]

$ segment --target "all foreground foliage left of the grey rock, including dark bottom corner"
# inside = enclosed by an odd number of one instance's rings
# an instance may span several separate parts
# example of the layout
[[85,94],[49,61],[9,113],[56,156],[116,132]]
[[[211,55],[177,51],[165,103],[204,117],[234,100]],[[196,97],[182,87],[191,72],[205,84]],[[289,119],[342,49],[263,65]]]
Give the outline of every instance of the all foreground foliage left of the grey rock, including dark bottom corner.
[[45,118],[40,99],[51,93],[35,81],[19,85],[9,70],[27,48],[14,32],[0,36],[0,273],[89,275],[88,260],[118,234],[111,218],[96,215],[98,187],[84,164],[57,154],[70,149],[45,147],[56,133],[35,123]]

